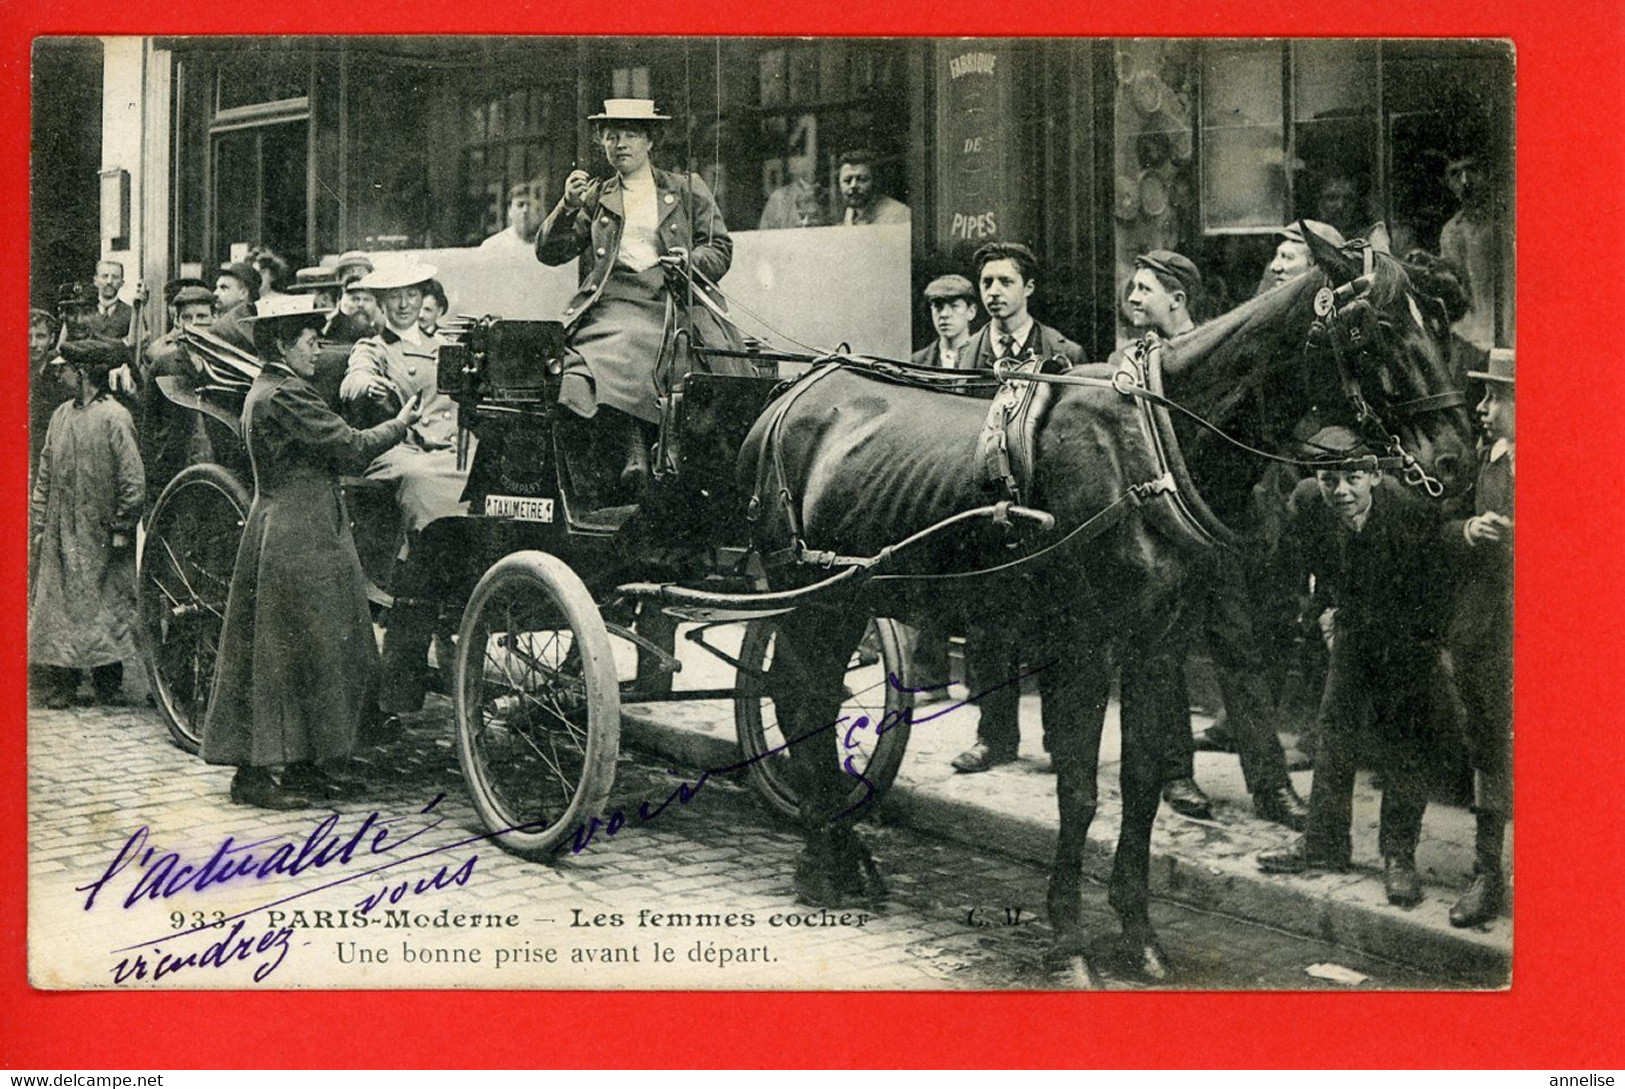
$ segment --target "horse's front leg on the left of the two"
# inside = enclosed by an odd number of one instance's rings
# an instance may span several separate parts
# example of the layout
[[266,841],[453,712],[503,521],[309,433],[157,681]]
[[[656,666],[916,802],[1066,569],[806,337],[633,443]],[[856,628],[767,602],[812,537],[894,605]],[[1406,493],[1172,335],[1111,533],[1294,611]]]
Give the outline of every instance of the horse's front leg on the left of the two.
[[1055,939],[1046,961],[1072,987],[1100,987],[1082,933],[1084,848],[1098,805],[1100,730],[1105,723],[1110,668],[1097,639],[1074,639],[1061,660],[1038,675],[1043,728],[1055,764],[1061,829],[1050,870],[1050,926]]

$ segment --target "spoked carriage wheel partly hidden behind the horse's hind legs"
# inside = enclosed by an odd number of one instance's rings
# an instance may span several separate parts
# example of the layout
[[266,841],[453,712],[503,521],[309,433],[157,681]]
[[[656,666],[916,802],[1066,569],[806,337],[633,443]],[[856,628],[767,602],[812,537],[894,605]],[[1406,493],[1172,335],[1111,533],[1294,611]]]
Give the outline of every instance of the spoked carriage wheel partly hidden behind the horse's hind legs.
[[[788,738],[778,728],[778,714],[767,689],[767,670],[774,662],[775,624],[770,619],[751,621],[744,629],[739,645],[739,679],[733,699],[733,718],[739,735],[739,749],[751,761],[751,783],[760,792],[778,813],[795,818],[801,800],[795,780],[790,774],[790,753],[783,746]],[[879,647],[879,660],[871,660],[868,647]],[[910,670],[904,657],[902,626],[890,619],[871,619],[863,645],[853,652],[847,663],[845,699],[840,714],[847,723],[858,722],[860,715],[868,717],[868,728],[848,731],[838,728],[837,744],[840,759],[848,757],[853,769],[863,780],[873,783],[876,798],[869,800],[863,813],[874,809],[874,801],[890,788],[902,767],[904,751],[908,748],[908,710],[913,709],[913,692],[900,692],[897,686],[887,683],[887,676],[907,678]],[[884,720],[884,733],[876,727]],[[852,746],[852,748],[848,748]],[[860,805],[869,795],[869,785],[853,779],[847,805]]]

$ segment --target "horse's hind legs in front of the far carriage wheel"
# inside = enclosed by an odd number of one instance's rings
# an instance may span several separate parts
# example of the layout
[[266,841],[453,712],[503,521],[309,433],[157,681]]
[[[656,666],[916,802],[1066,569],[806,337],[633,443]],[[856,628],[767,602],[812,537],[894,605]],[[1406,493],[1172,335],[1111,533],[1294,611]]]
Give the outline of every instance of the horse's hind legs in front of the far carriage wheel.
[[790,746],[791,782],[801,798],[804,847],[796,860],[796,899],[838,907],[845,892],[879,884],[873,861],[842,816],[847,777],[838,761],[847,662],[863,637],[861,614],[803,608],[778,619],[769,684]]

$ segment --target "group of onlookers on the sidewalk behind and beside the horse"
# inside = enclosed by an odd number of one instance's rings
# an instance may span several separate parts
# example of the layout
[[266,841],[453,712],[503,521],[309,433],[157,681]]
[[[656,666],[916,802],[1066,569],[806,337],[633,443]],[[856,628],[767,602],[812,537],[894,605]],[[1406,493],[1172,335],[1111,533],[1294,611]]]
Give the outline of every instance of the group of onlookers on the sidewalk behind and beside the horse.
[[[1474,881],[1451,912],[1461,926],[1493,918],[1505,900],[1503,840],[1511,816],[1511,536],[1514,466],[1513,351],[1487,343],[1495,322],[1490,200],[1471,156],[1451,163],[1461,211],[1446,224],[1443,254],[1406,258],[1425,273],[1471,361],[1482,429],[1479,471],[1466,496],[1440,504],[1419,497],[1376,468],[1376,455],[1349,427],[1302,434],[1303,457],[1341,458],[1298,479],[1276,468],[1256,489],[1259,527],[1238,549],[1216,556],[1186,592],[1191,645],[1170,647],[1168,676],[1185,697],[1188,650],[1206,650],[1222,709],[1214,727],[1181,740],[1165,767],[1164,801],[1212,819],[1194,779],[1198,749],[1235,753],[1254,813],[1302,835],[1259,857],[1269,873],[1344,870],[1350,858],[1355,767],[1381,785],[1380,850],[1388,899],[1414,905],[1422,891],[1415,850],[1430,796],[1466,800],[1477,818]],[[1344,247],[1336,228],[1303,221],[1279,231],[1259,278],[1272,291],[1315,267],[1303,231]],[[936,338],[913,362],[991,369],[994,361],[1081,361],[1077,345],[1030,314],[1040,281],[1035,255],[1019,244],[982,247],[968,270],[925,289]],[[1123,317],[1136,333],[1178,338],[1202,314],[1202,275],[1172,250],[1141,254],[1123,284]],[[986,322],[977,328],[985,312]],[[1487,351],[1485,351],[1487,349]],[[1482,393],[1477,390],[1482,388]],[[1313,426],[1305,421],[1305,426]],[[1017,694],[996,681],[1019,673],[1022,649],[991,629],[962,632],[965,683],[994,689],[980,704],[975,743],[954,757],[964,774],[1017,759]],[[946,639],[920,631],[921,688],[947,686]],[[982,683],[993,681],[991,684]],[[1282,741],[1295,688],[1313,710],[1298,718],[1295,744]],[[1464,757],[1464,759],[1454,759]],[[1466,787],[1462,764],[1471,767]],[[1290,770],[1313,767],[1305,801]],[[1454,772],[1454,775],[1453,775]]]

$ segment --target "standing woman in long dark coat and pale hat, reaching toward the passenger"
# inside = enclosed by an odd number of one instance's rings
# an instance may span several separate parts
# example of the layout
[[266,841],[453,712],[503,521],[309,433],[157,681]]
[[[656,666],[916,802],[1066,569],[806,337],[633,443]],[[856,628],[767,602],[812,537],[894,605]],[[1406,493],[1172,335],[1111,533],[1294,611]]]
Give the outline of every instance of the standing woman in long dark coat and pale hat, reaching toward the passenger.
[[[354,790],[318,767],[354,748],[379,676],[338,475],[364,470],[421,411],[413,398],[393,419],[356,431],[328,408],[310,385],[325,319],[312,296],[283,296],[260,302],[252,320],[265,361],[242,406],[254,505],[203,722],[203,759],[237,766],[232,801],[268,809]],[[281,780],[273,767],[286,769]]]

